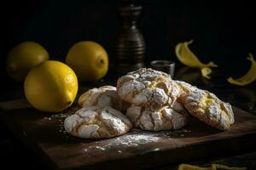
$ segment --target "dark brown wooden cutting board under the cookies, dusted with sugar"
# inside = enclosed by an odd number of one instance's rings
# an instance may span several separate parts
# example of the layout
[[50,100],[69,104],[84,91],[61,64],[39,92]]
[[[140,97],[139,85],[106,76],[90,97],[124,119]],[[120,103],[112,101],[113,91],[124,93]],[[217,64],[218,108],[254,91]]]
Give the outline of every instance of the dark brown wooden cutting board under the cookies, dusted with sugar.
[[233,107],[236,123],[218,131],[193,117],[177,131],[131,132],[113,139],[79,139],[67,134],[63,120],[76,108],[49,115],[32,108],[2,111],[1,117],[49,167],[146,168],[206,156],[249,150],[256,144],[256,116]]

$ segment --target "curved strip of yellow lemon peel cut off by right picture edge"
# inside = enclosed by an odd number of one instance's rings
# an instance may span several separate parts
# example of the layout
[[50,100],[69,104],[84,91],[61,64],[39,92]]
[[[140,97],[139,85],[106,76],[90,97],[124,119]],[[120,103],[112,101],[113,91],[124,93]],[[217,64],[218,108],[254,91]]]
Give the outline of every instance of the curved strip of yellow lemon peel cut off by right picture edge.
[[256,61],[253,58],[253,54],[249,54],[249,57],[247,57],[249,61],[251,61],[251,67],[247,71],[247,73],[239,78],[234,79],[233,77],[229,77],[227,79],[228,82],[231,84],[235,84],[238,86],[245,86],[251,82],[254,82],[256,80]]

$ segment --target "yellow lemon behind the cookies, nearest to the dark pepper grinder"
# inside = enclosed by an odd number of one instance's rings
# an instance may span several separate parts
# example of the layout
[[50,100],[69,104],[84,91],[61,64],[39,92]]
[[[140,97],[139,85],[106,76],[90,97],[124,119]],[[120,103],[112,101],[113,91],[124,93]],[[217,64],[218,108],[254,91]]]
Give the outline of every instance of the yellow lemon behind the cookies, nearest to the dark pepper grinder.
[[108,54],[96,42],[77,42],[69,49],[66,63],[79,77],[79,81],[96,82],[108,72]]

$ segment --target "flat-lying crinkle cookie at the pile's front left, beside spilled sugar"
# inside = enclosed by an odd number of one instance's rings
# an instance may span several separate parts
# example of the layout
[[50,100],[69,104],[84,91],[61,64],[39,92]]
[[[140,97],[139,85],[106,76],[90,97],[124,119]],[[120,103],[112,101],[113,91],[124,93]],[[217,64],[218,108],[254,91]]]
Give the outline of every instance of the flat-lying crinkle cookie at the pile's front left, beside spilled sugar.
[[111,107],[85,106],[64,121],[67,133],[84,139],[106,139],[127,133],[131,122]]

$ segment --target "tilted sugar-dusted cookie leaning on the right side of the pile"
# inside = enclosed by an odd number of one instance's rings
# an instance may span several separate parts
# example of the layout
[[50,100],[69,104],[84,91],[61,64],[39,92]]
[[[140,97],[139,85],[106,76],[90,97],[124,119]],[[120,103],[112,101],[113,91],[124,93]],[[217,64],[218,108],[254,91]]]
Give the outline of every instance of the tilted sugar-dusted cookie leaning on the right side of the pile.
[[[184,87],[189,87],[188,83],[182,84]],[[191,115],[212,127],[227,130],[235,122],[231,105],[206,90],[191,86],[188,90],[184,90],[178,100]]]

